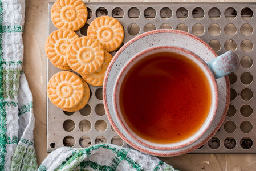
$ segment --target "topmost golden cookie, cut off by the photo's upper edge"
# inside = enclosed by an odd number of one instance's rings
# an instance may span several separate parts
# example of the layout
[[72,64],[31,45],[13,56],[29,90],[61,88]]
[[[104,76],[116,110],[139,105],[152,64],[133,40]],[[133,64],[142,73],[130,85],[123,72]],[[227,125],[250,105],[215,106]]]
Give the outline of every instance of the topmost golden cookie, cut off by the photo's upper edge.
[[51,21],[57,28],[78,31],[87,21],[87,7],[82,0],[57,0],[51,9]]

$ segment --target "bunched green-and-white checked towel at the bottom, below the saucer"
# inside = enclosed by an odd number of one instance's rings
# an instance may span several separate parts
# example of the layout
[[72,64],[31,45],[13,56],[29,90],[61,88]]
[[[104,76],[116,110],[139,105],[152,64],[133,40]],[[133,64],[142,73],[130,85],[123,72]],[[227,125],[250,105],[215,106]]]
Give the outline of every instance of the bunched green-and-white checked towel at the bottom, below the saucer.
[[113,144],[96,144],[90,148],[62,147],[51,152],[38,171],[178,171],[156,157]]

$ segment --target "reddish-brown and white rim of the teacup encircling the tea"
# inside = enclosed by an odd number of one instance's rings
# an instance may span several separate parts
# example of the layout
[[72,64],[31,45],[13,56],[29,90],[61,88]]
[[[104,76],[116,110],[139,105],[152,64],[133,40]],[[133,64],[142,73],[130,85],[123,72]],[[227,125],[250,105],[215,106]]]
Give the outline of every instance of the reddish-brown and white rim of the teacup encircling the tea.
[[[130,128],[127,128],[127,126],[124,124],[124,121],[121,119],[121,116],[120,116],[121,113],[119,113],[119,108],[117,106],[117,99],[118,99],[117,96],[119,96],[119,94],[117,94],[117,88],[120,87],[120,85],[121,85],[121,79],[123,78],[124,72],[130,69],[129,66],[130,66],[131,63],[133,63],[133,61],[137,60],[138,58],[139,58],[138,60],[140,60],[140,56],[143,55],[143,54],[146,54],[148,52],[155,51],[155,50],[161,50],[161,49],[163,49],[163,50],[171,49],[171,50],[174,50],[174,51],[177,51],[177,52],[183,52],[183,53],[185,53],[187,55],[192,56],[199,63],[201,63],[202,64],[201,68],[204,68],[205,72],[207,72],[208,75],[210,76],[208,80],[213,85],[213,93],[212,93],[212,95],[214,96],[214,101],[212,101],[211,111],[209,111],[209,114],[212,113],[212,115],[208,114],[208,117],[206,118],[206,120],[204,121],[204,123],[202,124],[200,129],[198,129],[195,133],[190,135],[188,138],[186,138],[185,140],[182,140],[182,141],[178,141],[176,143],[169,143],[169,144],[155,143],[155,144],[158,144],[158,145],[152,145],[154,143],[152,143],[152,144],[146,143],[148,140],[145,140],[146,141],[145,142],[145,141],[141,141],[140,139],[138,139],[136,137],[136,133],[133,133],[133,131],[131,131]],[[113,87],[113,107],[114,107],[114,110],[116,112],[116,116],[117,116],[117,120],[119,121],[119,124],[124,129],[124,131],[127,132],[128,135],[132,137],[133,140],[135,140],[135,141],[137,141],[137,143],[139,143],[139,144],[141,144],[143,146],[147,146],[148,148],[151,148],[151,149],[156,149],[156,150],[174,150],[174,149],[184,148],[185,146],[193,144],[202,135],[204,135],[204,133],[208,130],[208,128],[212,124],[212,122],[214,120],[214,117],[216,116],[216,113],[217,113],[217,107],[218,107],[218,88],[217,88],[216,79],[214,78],[214,75],[213,75],[212,71],[210,70],[208,65],[204,62],[204,60],[201,59],[199,56],[197,56],[196,54],[194,54],[193,52],[191,52],[189,50],[186,50],[185,48],[181,48],[181,47],[178,47],[178,46],[169,46],[169,45],[153,46],[153,47],[149,47],[149,48],[147,48],[145,50],[142,50],[142,51],[138,52],[137,54],[133,55],[132,58],[129,59],[127,61],[127,63],[125,63],[125,65],[121,68],[121,70],[120,70],[120,72],[119,72],[119,74],[117,76],[117,79],[115,80],[115,84],[114,85],[115,86]],[[204,128],[204,129],[202,129],[202,128]],[[193,139],[188,141],[188,139],[191,139],[192,137],[193,137]],[[141,139],[144,140],[143,138],[141,138]],[[171,145],[171,144],[177,144],[177,145]],[[161,145],[163,145],[163,146],[161,146]],[[168,146],[168,145],[171,145],[171,146]]]

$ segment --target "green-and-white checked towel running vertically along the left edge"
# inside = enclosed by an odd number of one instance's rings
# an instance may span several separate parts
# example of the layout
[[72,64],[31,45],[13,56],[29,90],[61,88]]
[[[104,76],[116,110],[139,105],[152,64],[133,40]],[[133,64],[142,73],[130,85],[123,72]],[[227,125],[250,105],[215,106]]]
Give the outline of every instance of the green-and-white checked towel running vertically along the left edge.
[[25,0],[0,0],[0,170],[36,170],[32,95],[22,71]]

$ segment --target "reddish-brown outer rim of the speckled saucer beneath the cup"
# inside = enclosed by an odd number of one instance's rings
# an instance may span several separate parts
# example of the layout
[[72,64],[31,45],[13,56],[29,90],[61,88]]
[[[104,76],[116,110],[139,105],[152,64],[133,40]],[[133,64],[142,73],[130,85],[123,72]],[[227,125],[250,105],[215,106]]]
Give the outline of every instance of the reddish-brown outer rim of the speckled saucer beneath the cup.
[[[137,40],[141,39],[141,38],[145,38],[147,36],[151,36],[151,35],[157,35],[157,34],[180,34],[180,35],[184,35],[187,36],[189,38],[192,38],[194,40],[196,40],[198,43],[202,44],[202,46],[204,46],[206,49],[208,49],[208,51],[213,54],[213,56],[216,58],[218,55],[217,53],[213,50],[212,47],[209,46],[209,44],[207,44],[206,42],[204,42],[204,40],[198,38],[195,35],[192,35],[188,32],[184,32],[184,31],[180,31],[180,30],[173,30],[173,29],[161,29],[161,30],[153,30],[153,31],[149,31],[149,32],[144,32],[143,34],[137,35],[135,36],[135,38],[129,40],[127,43],[124,44],[123,47],[120,48],[119,51],[116,52],[115,56],[113,56],[112,61],[109,63],[109,66],[107,68],[107,71],[105,73],[105,78],[104,78],[104,82],[103,82],[103,104],[104,104],[104,108],[105,108],[105,112],[106,115],[108,117],[109,122],[111,123],[113,129],[115,130],[115,132],[117,133],[117,135],[119,135],[121,137],[121,139],[123,139],[126,143],[128,143],[129,145],[131,145],[133,148],[140,150],[141,152],[144,153],[148,153],[151,154],[153,156],[162,156],[162,157],[169,157],[169,156],[178,156],[181,154],[185,154],[185,153],[189,153],[197,148],[200,148],[200,146],[204,145],[205,143],[207,143],[211,137],[213,137],[217,131],[220,129],[222,123],[224,122],[225,118],[226,118],[226,113],[227,110],[229,108],[229,103],[230,103],[230,84],[229,84],[229,78],[228,76],[224,76],[225,79],[225,86],[226,86],[226,96],[225,96],[225,105],[223,108],[223,112],[220,113],[220,120],[218,121],[217,125],[214,126],[214,129],[210,132],[210,134],[208,136],[206,136],[202,141],[200,141],[200,143],[194,143],[193,146],[190,146],[188,148],[182,149],[180,151],[173,151],[170,150],[168,152],[163,153],[161,150],[149,150],[147,148],[144,148],[143,146],[141,146],[140,144],[137,144],[136,142],[134,142],[133,140],[129,139],[125,133],[121,130],[121,128],[119,128],[119,124],[116,123],[115,121],[115,116],[114,113],[110,112],[110,108],[113,108],[112,106],[109,107],[109,103],[112,103],[112,101],[110,102],[108,100],[108,95],[107,95],[107,86],[108,86],[108,82],[109,82],[109,72],[111,72],[111,70],[113,69],[113,65],[115,64],[117,58],[122,54],[123,51],[125,51],[129,46],[131,46],[131,44],[135,43]],[[112,89],[111,89],[112,91]]]

